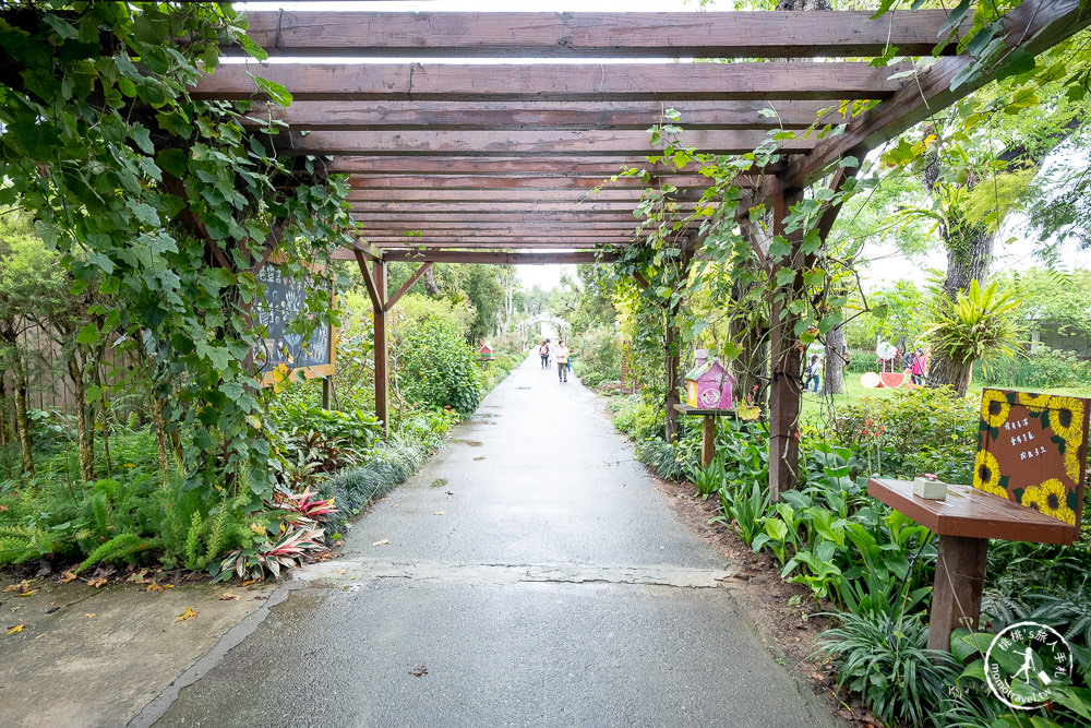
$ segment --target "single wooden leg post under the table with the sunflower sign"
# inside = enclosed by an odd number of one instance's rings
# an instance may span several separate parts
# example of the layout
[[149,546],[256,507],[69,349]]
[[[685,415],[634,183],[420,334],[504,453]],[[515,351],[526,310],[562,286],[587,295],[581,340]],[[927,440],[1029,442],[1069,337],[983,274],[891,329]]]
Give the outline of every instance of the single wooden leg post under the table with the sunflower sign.
[[936,550],[936,582],[932,587],[928,649],[951,648],[951,632],[978,629],[981,592],[985,585],[987,538],[940,536]]

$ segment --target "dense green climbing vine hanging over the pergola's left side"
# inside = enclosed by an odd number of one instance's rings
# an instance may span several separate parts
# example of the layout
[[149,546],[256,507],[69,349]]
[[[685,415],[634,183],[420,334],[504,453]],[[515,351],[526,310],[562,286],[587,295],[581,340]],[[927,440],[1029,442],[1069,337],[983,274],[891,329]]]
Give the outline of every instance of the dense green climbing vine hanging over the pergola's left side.
[[[244,126],[245,105],[192,97],[221,47],[264,57],[244,28],[229,3],[0,9],[0,206],[34,216],[74,293],[104,295],[77,344],[153,359],[166,420],[192,432],[187,486],[208,496],[271,482],[256,272],[275,253],[285,276],[309,275],[351,226],[344,180],[280,156],[278,129]],[[259,89],[290,103],[255,79]],[[328,296],[313,287],[313,321],[329,321]]]

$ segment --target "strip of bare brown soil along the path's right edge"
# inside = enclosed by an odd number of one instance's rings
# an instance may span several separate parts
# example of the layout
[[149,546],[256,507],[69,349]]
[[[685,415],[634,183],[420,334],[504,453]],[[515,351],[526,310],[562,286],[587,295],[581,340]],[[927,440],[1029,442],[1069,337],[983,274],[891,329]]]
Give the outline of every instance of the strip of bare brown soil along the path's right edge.
[[835,715],[848,725],[880,728],[883,724],[872,717],[856,697],[838,690],[834,673],[811,658],[818,634],[831,625],[832,620],[822,614],[829,605],[816,605],[808,588],[783,581],[776,560],[765,553],[754,553],[734,530],[709,523],[720,514],[715,497],[703,500],[688,482],[656,480],[686,526],[720,554],[743,566],[744,571],[730,586],[766,644],[780,653],[788,667],[805,680],[816,695],[825,697]]

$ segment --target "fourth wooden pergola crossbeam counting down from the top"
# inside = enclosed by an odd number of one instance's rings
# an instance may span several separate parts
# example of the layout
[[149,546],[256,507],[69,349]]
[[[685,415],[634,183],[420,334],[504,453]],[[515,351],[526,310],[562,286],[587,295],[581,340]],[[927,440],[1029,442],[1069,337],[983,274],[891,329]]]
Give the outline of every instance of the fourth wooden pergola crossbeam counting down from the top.
[[[678,143],[707,154],[745,154],[769,141],[765,131],[698,130],[679,134]],[[789,139],[775,146],[789,152],[814,147],[816,138]],[[276,144],[292,156],[563,156],[580,154],[631,157],[655,155],[647,130],[640,131],[312,131],[290,133]]]

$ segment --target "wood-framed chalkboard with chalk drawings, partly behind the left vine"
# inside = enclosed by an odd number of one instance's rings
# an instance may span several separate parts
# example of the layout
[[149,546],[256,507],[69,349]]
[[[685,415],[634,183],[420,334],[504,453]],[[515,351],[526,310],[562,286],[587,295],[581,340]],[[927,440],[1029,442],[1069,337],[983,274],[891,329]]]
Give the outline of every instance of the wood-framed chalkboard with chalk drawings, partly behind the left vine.
[[[284,365],[293,375],[332,374],[336,342],[328,324],[315,329],[311,333],[311,339],[305,343],[302,334],[287,331],[291,322],[304,312],[307,291],[314,282],[310,278],[286,278],[273,263],[262,266],[257,272],[257,281],[262,285],[264,300],[254,302],[251,314],[254,324],[263,326],[265,332],[254,349],[257,371],[267,374]],[[266,377],[263,384],[271,381],[272,378]]]

